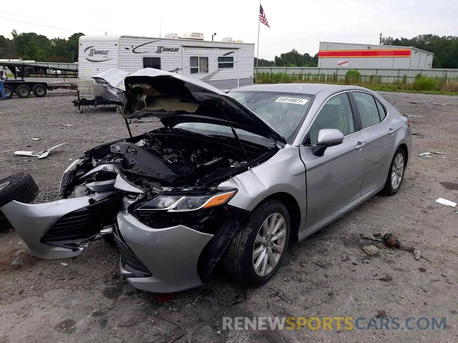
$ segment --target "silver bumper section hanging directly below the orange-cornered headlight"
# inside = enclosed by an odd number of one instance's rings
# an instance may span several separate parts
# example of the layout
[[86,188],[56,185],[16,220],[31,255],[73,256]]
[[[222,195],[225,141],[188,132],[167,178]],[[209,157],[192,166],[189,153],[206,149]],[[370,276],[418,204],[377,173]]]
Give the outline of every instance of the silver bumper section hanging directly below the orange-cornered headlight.
[[213,235],[184,225],[154,229],[126,212],[118,214],[117,224],[120,272],[135,288],[169,293],[202,284],[197,261]]

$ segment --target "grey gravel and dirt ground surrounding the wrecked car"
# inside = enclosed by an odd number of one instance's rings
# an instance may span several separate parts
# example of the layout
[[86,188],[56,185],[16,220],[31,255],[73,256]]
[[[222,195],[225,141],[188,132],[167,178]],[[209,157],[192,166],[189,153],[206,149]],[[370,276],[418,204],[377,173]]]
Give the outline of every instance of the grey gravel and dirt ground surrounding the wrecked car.
[[[133,289],[120,278],[118,253],[97,241],[75,259],[44,261],[23,254],[14,230],[0,230],[0,343],[156,342],[180,336],[178,325],[147,313],[158,311],[186,330],[176,342],[458,342],[458,97],[383,93],[411,116],[414,150],[403,188],[374,197],[342,219],[290,248],[282,268],[266,285],[239,289],[217,272],[210,284],[174,294]],[[114,110],[76,111],[74,92],[0,102],[0,177],[28,171],[40,188],[37,202],[58,199],[64,169],[95,145],[127,136]],[[437,105],[446,103],[448,105]],[[72,125],[72,126],[64,126]],[[134,134],[160,125],[134,123]],[[41,138],[34,141],[32,138]],[[46,159],[15,156],[66,143]],[[440,151],[431,159],[424,151]],[[397,232],[422,252],[389,249],[360,233]],[[369,256],[362,247],[380,248]],[[62,264],[62,263],[65,263]],[[419,268],[425,268],[421,271]],[[382,278],[382,280],[380,280]],[[230,305],[231,299],[241,300]],[[447,317],[447,330],[222,331],[223,316],[409,316]],[[362,322],[360,326],[365,326]],[[414,325],[414,322],[411,323]],[[424,325],[424,323],[423,323]]]

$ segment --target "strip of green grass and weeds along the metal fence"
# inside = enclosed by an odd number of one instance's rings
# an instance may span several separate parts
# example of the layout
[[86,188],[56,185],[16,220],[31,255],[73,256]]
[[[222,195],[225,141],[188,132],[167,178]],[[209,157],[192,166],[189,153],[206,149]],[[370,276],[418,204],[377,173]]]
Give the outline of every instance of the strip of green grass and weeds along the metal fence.
[[335,85],[355,85],[372,91],[397,91],[407,93],[458,95],[458,79],[432,78],[417,75],[413,83],[409,83],[403,75],[394,83],[382,82],[381,75],[360,75],[357,70],[349,70],[344,78],[333,75],[256,73],[255,83],[326,83]]

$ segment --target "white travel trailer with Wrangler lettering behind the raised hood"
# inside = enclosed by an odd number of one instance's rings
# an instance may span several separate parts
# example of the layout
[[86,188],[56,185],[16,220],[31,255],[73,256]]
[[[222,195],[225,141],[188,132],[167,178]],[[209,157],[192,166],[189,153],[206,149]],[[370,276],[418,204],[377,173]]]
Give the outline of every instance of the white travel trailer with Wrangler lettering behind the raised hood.
[[170,71],[221,90],[253,84],[254,44],[235,42],[230,37],[222,42],[205,41],[200,32],[180,37],[169,33],[164,38],[81,36],[78,57],[78,88],[80,97],[87,99],[104,91],[94,89],[90,78],[112,68]]

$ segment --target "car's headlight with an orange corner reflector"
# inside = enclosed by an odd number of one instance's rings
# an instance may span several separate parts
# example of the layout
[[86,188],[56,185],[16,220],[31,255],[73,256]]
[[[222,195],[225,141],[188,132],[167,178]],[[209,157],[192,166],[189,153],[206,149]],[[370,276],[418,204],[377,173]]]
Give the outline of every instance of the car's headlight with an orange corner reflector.
[[230,190],[218,194],[206,195],[173,195],[162,194],[153,200],[148,201],[137,211],[168,210],[169,212],[194,211],[196,209],[207,209],[227,203],[237,190]]

